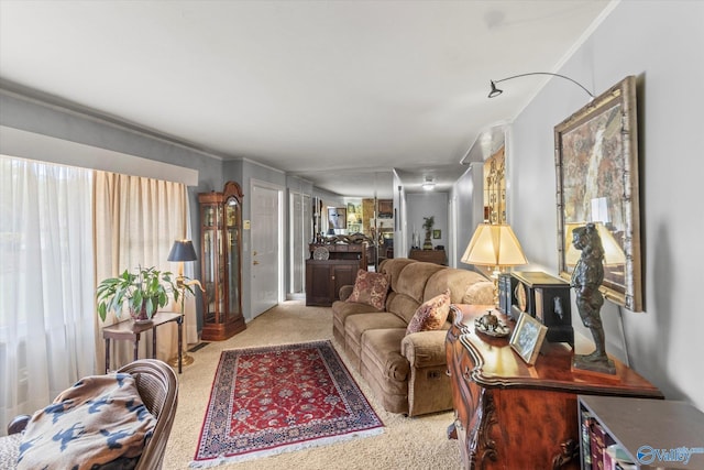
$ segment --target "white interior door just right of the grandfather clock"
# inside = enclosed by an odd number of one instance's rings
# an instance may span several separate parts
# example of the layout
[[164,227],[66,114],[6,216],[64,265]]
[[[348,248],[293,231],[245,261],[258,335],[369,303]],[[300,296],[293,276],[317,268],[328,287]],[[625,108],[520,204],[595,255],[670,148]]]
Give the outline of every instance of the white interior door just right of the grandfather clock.
[[280,299],[283,194],[280,187],[252,181],[252,318]]

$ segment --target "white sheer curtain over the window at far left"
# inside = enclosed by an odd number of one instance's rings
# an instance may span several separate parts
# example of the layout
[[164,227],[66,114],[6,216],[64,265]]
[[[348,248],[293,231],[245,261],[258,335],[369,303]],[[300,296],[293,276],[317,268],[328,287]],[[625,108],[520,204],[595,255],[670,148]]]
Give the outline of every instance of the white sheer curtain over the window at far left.
[[0,155],[0,435],[96,370],[92,172]]

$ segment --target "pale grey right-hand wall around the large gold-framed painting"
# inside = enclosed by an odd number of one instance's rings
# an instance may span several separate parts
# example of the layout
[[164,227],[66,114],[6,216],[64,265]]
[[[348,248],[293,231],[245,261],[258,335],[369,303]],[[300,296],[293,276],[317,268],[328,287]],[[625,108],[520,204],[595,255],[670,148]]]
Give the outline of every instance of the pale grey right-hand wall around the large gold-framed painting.
[[[703,25],[704,2],[622,1],[559,70],[596,95],[628,75],[638,78],[645,311],[623,310],[624,341],[619,308],[604,305],[607,350],[618,352],[625,342],[632,369],[667,398],[685,400],[700,409]],[[531,263],[526,270],[557,274],[553,128],[585,102],[579,87],[553,78],[514,122],[507,162],[513,175],[509,222]],[[573,323],[581,326],[574,306]]]

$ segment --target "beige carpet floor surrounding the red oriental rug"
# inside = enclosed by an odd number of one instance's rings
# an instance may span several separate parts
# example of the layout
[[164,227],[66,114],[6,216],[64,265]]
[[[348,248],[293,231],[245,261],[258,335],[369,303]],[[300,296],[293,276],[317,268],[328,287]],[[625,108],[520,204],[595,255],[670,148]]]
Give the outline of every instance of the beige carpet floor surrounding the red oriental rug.
[[386,413],[364,380],[353,371],[340,345],[332,338],[330,308],[306,307],[289,300],[260,315],[248,329],[227,341],[211,342],[191,352],[195,362],[179,375],[178,411],[172,430],[165,469],[186,469],[193,460],[208,404],[215,370],[223,349],[332,340],[367,400],[384,422],[384,433],[274,457],[230,463],[216,469],[459,469],[458,442],[446,437],[452,413],[408,418]]

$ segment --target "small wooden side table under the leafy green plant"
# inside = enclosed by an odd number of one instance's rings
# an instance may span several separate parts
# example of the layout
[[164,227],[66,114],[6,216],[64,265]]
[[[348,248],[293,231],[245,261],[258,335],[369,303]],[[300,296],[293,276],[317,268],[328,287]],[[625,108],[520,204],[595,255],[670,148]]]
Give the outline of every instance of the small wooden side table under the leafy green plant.
[[130,319],[102,328],[102,338],[106,340],[106,373],[110,371],[111,339],[134,342],[134,360],[136,361],[139,359],[140,336],[144,331],[152,330],[152,358],[156,359],[156,327],[169,321],[176,321],[178,324],[178,373],[182,373],[184,316],[168,311],[156,313],[152,317],[152,321],[148,323],[136,324]]

